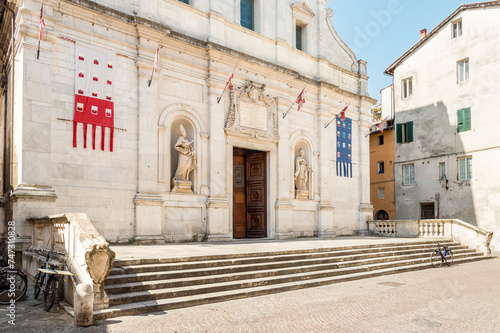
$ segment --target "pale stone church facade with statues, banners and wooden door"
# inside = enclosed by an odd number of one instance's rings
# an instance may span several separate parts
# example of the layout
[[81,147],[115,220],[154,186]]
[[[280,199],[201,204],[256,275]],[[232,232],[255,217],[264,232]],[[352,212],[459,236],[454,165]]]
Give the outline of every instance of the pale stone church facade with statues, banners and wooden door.
[[118,243],[366,229],[375,101],[326,0],[45,0],[40,29],[40,2],[8,5],[2,225],[20,249],[27,219],[68,212]]

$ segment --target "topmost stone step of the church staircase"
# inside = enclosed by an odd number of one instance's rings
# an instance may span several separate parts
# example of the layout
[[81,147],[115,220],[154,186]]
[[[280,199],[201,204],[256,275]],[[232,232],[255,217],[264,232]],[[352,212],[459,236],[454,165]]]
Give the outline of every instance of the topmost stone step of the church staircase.
[[225,260],[225,259],[240,259],[240,258],[254,258],[254,257],[267,257],[267,256],[287,256],[287,255],[300,255],[300,254],[313,254],[321,252],[341,252],[349,251],[355,253],[357,250],[371,250],[379,251],[380,248],[412,248],[415,246],[436,246],[436,243],[448,246],[453,243],[450,239],[440,239],[437,240],[425,240],[419,242],[404,242],[404,243],[383,243],[383,244],[369,244],[369,245],[356,245],[356,246],[344,246],[335,248],[314,248],[314,249],[298,249],[298,250],[285,250],[285,251],[274,251],[274,252],[252,252],[252,253],[232,253],[232,254],[220,254],[220,255],[210,255],[210,256],[192,256],[192,257],[173,257],[173,258],[144,258],[144,259],[117,259],[114,261],[114,267],[124,267],[124,266],[136,266],[136,265],[158,265],[158,264],[168,264],[168,263],[186,263],[193,261],[211,261],[211,260]]

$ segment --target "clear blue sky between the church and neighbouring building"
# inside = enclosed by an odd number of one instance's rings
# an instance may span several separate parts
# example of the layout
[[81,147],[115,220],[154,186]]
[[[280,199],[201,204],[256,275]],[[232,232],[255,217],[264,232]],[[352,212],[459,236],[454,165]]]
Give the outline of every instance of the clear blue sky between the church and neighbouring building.
[[462,3],[471,0],[328,0],[333,25],[358,59],[368,62],[368,90],[380,100],[380,90],[392,83],[384,70]]

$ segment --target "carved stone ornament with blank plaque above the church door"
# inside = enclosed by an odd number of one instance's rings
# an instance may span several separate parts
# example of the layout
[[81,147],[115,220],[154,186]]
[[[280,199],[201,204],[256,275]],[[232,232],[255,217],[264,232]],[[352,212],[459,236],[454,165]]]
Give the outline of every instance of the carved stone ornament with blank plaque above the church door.
[[230,93],[226,133],[278,141],[278,103],[265,93],[266,85],[248,81]]

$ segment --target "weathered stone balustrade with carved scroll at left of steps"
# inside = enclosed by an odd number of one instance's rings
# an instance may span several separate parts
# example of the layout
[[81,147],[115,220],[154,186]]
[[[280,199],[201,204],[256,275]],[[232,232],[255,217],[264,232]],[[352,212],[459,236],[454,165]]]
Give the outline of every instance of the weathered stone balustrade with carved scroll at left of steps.
[[92,286],[95,310],[109,307],[104,280],[111,272],[115,253],[109,248],[86,214],[62,214],[28,220],[33,227],[32,245],[23,253],[23,269],[31,275],[45,262],[44,255],[63,262],[73,273],[73,283],[65,284],[64,299],[73,304],[79,284]]

